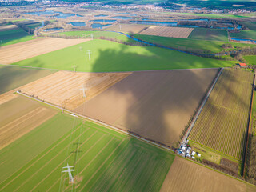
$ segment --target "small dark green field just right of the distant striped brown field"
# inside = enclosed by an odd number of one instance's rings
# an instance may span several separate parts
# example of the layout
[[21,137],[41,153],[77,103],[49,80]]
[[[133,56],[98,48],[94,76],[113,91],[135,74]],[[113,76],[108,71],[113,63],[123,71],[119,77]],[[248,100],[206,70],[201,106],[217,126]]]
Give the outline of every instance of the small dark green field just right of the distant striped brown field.
[[210,30],[210,29],[198,29],[195,28],[189,38],[210,40],[210,41],[220,41],[228,42],[226,30]]

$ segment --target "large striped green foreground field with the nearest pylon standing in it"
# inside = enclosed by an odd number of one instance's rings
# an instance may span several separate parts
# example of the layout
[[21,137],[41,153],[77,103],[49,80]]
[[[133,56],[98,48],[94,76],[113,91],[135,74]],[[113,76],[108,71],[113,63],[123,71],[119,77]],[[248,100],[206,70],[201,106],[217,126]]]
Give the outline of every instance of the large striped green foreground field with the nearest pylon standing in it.
[[[158,191],[174,154],[58,114],[0,150],[0,160],[1,191]],[[67,163],[74,184],[62,173]]]

